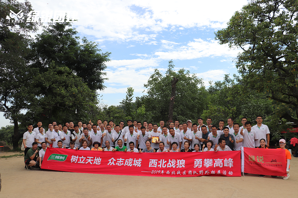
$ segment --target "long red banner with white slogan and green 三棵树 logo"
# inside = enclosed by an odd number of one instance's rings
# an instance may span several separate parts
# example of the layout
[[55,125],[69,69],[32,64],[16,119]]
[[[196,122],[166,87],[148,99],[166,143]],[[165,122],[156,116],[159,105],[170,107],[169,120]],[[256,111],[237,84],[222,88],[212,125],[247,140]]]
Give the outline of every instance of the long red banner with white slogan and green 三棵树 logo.
[[130,153],[47,148],[42,168],[158,177],[241,176],[240,151]]

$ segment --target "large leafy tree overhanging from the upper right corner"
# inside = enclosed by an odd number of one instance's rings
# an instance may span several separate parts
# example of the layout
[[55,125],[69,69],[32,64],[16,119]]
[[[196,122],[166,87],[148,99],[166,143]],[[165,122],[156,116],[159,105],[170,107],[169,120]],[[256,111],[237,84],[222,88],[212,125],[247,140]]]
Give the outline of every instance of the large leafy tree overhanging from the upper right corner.
[[[280,119],[298,124],[298,1],[251,0],[216,39],[240,47],[239,82],[287,107]],[[294,113],[293,113],[294,112]]]

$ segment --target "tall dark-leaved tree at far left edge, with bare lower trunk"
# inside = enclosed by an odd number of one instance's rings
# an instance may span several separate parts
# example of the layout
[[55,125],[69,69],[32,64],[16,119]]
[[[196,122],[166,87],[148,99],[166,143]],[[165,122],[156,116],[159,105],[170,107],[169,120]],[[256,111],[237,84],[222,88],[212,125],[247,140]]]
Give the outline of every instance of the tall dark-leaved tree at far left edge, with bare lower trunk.
[[39,23],[26,23],[24,19],[7,19],[10,10],[18,13],[22,10],[26,16],[31,10],[28,1],[20,3],[14,0],[0,2],[0,111],[14,125],[13,148],[18,147],[22,137],[19,132],[21,109],[26,109],[35,97],[36,88],[32,86],[32,76],[36,69],[27,67],[24,59],[30,52],[29,32],[37,30]]

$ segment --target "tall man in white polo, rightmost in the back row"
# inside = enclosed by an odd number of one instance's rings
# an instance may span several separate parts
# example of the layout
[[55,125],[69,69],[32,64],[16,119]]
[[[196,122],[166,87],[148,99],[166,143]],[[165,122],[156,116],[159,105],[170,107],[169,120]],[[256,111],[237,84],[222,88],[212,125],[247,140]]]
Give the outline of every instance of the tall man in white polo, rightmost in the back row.
[[255,130],[258,134],[258,140],[254,142],[255,147],[260,146],[261,139],[265,139],[265,143],[267,147],[269,148],[269,142],[270,142],[270,131],[267,125],[263,124],[263,118],[262,116],[257,116],[257,124],[252,127],[253,130]]

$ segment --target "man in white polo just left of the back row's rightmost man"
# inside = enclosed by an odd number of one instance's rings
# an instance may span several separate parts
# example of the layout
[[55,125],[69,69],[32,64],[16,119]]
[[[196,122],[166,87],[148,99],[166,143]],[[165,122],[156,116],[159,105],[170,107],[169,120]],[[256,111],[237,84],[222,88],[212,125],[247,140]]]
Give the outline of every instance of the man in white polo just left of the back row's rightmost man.
[[243,135],[243,147],[255,148],[254,142],[258,140],[258,134],[252,129],[252,123],[247,121],[245,123],[246,129],[241,129],[240,134]]

